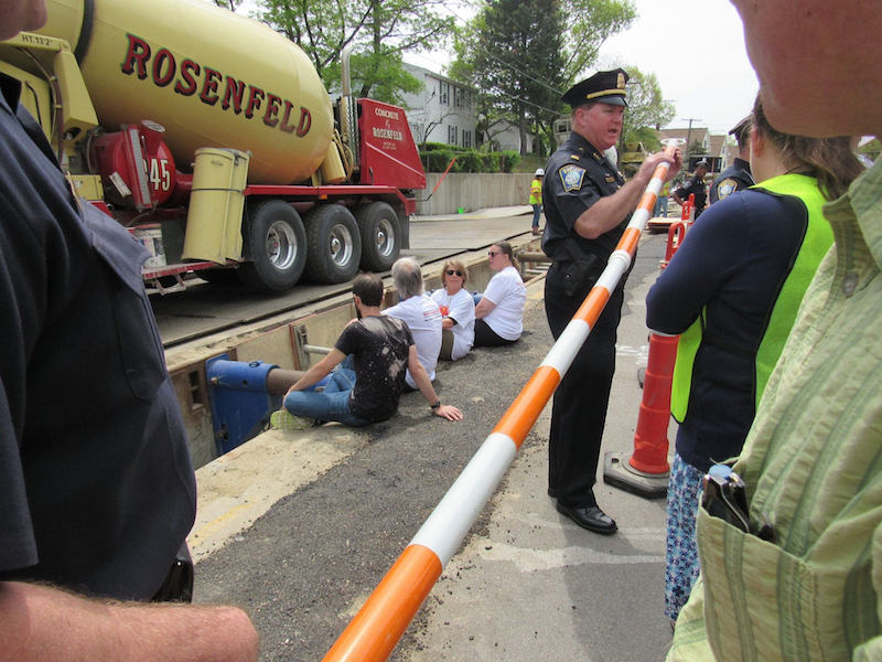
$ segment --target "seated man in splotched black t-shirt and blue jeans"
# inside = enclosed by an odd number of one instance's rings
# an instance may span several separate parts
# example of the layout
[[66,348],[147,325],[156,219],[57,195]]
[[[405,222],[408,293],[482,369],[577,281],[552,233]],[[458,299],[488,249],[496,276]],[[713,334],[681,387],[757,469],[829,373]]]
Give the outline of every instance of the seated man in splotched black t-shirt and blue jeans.
[[[379,276],[359,275],[352,291],[358,318],[346,325],[334,349],[288,389],[284,409],[272,414],[272,426],[299,429],[310,424],[297,417],[336,420],[349,426],[386,420],[398,409],[406,367],[429,402],[432,414],[461,420],[462,412],[438,399],[417,357],[417,346],[407,324],[380,314],[383,280]],[[352,367],[344,364],[334,370],[344,359]],[[324,391],[308,391],[329,374]]]

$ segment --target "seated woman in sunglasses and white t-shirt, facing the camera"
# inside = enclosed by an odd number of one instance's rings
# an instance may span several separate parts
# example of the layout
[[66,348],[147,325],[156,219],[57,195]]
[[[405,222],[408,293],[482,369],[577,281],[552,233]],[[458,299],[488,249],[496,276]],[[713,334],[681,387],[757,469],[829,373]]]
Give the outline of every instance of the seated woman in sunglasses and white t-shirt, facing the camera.
[[441,354],[444,361],[462,359],[472,349],[475,339],[475,302],[465,291],[469,273],[458,259],[449,259],[441,270],[440,290],[432,300],[441,309]]

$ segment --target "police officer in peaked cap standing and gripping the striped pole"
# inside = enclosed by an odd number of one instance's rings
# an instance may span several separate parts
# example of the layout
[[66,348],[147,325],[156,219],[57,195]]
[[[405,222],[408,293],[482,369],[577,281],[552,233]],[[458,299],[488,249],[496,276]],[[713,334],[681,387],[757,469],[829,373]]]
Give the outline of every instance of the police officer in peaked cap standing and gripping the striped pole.
[[[542,184],[546,229],[542,250],[552,259],[545,284],[548,325],[557,339],[606,266],[631,212],[656,166],[680,156],[652,154],[627,183],[604,158],[622,132],[627,74],[599,72],[562,97],[572,107],[572,132],[546,166]],[[555,393],[549,437],[548,494],[579,526],[614,533],[615,522],[594,499],[606,405],[615,369],[615,338],[624,299],[624,279]]]

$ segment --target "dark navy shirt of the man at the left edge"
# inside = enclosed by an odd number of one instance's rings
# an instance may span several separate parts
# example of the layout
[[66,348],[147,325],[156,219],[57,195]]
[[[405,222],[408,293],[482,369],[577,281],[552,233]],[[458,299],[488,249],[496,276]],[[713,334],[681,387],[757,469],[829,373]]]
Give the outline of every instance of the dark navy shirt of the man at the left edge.
[[196,490],[147,252],[73,197],[18,84],[0,89],[0,580],[149,599]]

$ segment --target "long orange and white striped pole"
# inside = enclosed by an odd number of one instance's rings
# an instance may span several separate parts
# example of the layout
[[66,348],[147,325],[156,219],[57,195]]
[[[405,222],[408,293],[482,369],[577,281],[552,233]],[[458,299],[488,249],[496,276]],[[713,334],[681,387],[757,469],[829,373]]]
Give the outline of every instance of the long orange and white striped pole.
[[[667,146],[673,156],[676,142]],[[448,562],[496,491],[576,354],[596,323],[610,293],[631,266],[641,232],[652,217],[668,164],[655,169],[606,268],[576,317],[515,397],[481,448],[448,490],[386,576],[370,594],[324,662],[386,660],[428,597]]]

